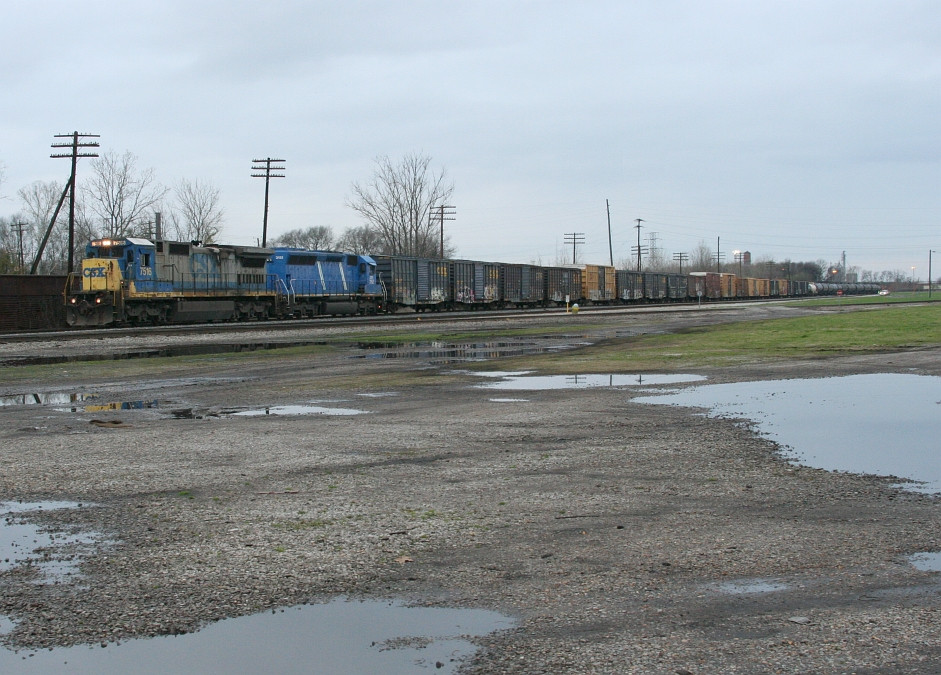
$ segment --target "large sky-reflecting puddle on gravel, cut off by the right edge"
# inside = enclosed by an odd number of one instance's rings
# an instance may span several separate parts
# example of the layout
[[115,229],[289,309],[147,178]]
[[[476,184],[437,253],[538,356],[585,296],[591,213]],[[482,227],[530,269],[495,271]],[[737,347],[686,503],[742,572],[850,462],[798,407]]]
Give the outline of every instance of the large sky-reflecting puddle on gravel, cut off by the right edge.
[[941,491],[941,378],[851,375],[693,387],[639,403],[710,408],[745,418],[788,459],[830,471],[902,477]]

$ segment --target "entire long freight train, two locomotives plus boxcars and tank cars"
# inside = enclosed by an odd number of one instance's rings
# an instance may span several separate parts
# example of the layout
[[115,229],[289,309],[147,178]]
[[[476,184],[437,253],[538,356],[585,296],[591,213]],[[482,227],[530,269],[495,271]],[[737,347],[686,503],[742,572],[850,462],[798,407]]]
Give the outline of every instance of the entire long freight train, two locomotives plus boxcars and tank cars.
[[66,285],[70,326],[196,323],[640,302],[876,293],[718,272],[526,265],[128,237],[85,248]]

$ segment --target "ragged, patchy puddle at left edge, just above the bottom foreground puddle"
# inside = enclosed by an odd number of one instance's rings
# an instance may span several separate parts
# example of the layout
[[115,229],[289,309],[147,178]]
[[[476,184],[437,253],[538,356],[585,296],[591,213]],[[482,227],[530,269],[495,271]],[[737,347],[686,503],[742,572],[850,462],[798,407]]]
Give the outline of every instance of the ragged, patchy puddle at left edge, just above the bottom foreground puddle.
[[37,572],[40,584],[77,577],[81,558],[97,550],[102,537],[93,532],[46,532],[26,516],[80,506],[76,502],[0,502],[0,571],[29,566]]

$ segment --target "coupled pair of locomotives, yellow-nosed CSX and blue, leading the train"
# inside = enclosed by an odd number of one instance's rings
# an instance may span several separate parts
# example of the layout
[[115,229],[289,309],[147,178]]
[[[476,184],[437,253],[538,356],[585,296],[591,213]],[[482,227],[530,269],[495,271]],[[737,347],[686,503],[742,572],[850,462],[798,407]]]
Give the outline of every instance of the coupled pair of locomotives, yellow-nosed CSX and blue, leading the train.
[[382,306],[369,256],[127,237],[85,247],[70,275],[70,326],[373,314]]

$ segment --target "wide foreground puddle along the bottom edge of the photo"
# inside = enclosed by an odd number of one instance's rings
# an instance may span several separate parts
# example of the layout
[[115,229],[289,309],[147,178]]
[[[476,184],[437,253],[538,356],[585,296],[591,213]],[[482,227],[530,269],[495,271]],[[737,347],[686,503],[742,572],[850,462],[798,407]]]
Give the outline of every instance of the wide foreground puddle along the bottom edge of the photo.
[[196,633],[35,652],[0,649],[17,673],[454,673],[475,636],[512,628],[496,612],[335,600],[206,626]]

